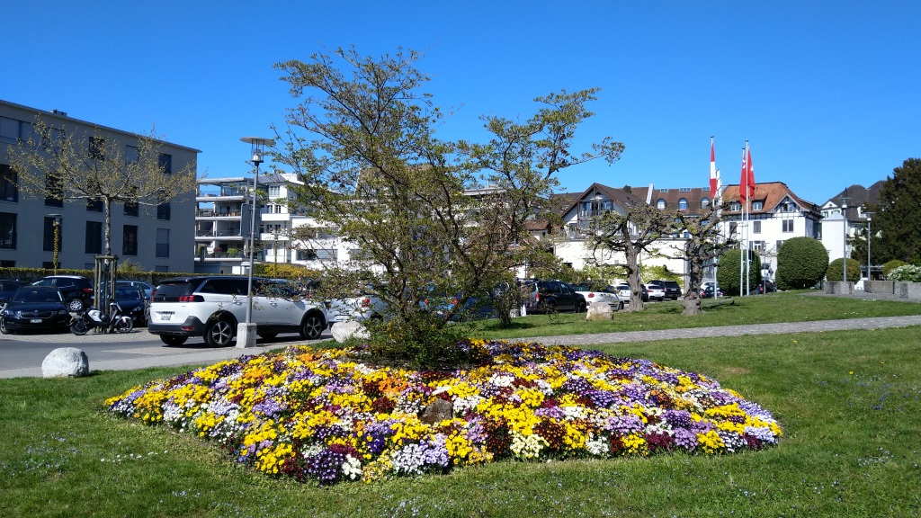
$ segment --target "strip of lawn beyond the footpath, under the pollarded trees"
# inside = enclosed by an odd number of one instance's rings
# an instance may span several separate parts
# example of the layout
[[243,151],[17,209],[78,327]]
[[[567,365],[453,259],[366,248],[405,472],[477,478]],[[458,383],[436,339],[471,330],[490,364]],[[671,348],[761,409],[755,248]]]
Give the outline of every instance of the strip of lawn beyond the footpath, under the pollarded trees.
[[820,297],[814,291],[800,291],[735,297],[730,300],[704,300],[704,310],[703,314],[684,316],[681,301],[678,300],[649,304],[643,312],[617,312],[609,321],[586,322],[585,313],[559,313],[549,317],[529,315],[516,318],[510,328],[502,328],[498,320],[493,319],[476,323],[472,336],[505,339],[903,316],[921,314],[921,304]]

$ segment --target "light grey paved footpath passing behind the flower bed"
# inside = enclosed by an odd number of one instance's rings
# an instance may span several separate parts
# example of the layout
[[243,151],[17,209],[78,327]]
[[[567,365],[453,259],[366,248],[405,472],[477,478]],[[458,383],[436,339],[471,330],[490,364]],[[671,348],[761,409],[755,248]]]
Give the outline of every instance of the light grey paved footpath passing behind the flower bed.
[[[622,333],[599,333],[594,335],[537,336],[510,339],[509,341],[541,342],[547,345],[586,346],[592,344],[610,344],[621,342],[647,342],[653,340],[672,340],[687,338],[705,338],[713,336],[745,335],[780,335],[784,333],[816,333],[821,331],[839,331],[847,329],[880,329],[886,327],[907,327],[921,325],[921,315],[857,318],[850,320],[822,320],[815,322],[795,322],[781,324],[727,325],[721,327],[691,327],[682,329],[663,329],[658,331],[628,331]],[[62,335],[61,347],[66,347],[66,336]],[[301,342],[298,342],[301,343]],[[256,355],[285,344],[273,344],[263,347],[225,347],[221,349],[190,350],[177,347],[145,347],[131,349],[134,355],[144,355],[132,359],[114,359],[93,361],[89,359],[90,371],[131,371],[147,367],[167,367],[178,365],[207,365],[224,359],[238,358],[244,355]],[[28,369],[0,369],[0,378],[41,377],[41,366]]]

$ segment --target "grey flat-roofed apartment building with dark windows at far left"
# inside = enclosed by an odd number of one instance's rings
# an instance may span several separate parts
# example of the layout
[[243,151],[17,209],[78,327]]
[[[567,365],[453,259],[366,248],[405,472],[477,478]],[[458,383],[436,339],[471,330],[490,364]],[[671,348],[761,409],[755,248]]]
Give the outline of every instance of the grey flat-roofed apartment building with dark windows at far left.
[[[104,253],[105,217],[100,203],[61,201],[30,195],[20,188],[10,167],[9,150],[35,135],[37,118],[59,135],[76,135],[87,147],[99,139],[125,148],[125,157],[137,148],[131,132],[0,100],[0,266],[53,267],[57,250],[62,268],[87,268]],[[136,152],[136,151],[135,151]],[[200,151],[162,143],[160,163],[167,171],[194,170]],[[192,272],[194,232],[192,195],[180,196],[157,207],[111,206],[111,251],[142,269]]]

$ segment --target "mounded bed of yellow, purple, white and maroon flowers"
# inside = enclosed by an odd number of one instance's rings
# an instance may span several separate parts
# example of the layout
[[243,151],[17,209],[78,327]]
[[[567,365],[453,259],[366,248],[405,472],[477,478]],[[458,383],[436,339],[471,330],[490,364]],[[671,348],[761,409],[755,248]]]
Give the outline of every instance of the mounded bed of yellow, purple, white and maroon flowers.
[[[729,453],[782,435],[761,406],[694,372],[573,347],[462,347],[491,361],[407,371],[369,366],[362,349],[296,346],[146,383],[106,406],[216,441],[262,472],[321,484],[504,458]],[[449,415],[433,421],[437,406]]]

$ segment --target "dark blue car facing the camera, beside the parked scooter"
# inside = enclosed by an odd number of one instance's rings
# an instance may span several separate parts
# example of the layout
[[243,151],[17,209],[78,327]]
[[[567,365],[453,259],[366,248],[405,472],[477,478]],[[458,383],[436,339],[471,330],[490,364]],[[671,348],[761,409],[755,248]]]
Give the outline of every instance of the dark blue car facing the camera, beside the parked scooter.
[[4,335],[32,329],[62,330],[68,325],[70,312],[57,288],[23,286],[0,312],[0,333]]

